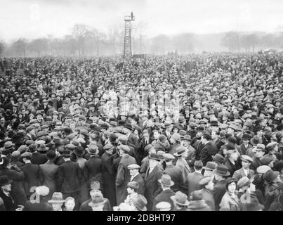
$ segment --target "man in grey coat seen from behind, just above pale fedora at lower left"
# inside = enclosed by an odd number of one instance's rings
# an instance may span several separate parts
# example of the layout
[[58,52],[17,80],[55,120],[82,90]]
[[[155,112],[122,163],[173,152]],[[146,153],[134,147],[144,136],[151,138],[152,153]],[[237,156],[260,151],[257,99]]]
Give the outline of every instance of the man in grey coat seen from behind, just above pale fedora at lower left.
[[54,150],[49,150],[46,153],[47,162],[44,164],[39,165],[40,172],[42,176],[42,185],[49,188],[49,193],[46,196],[47,200],[50,200],[52,194],[57,191],[57,176],[58,176],[58,169],[59,166],[55,165],[54,160],[57,157]]

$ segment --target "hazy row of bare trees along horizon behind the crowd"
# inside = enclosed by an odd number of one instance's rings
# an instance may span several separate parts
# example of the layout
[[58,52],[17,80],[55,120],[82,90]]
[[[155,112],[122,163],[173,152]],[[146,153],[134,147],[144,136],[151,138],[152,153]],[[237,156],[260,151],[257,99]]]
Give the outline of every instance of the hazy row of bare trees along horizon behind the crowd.
[[[147,24],[132,25],[133,53],[181,54],[199,51],[258,51],[283,48],[283,32],[279,34],[227,32],[223,34],[183,33],[169,37],[159,34],[146,37]],[[95,27],[76,24],[65,37],[28,40],[19,38],[11,44],[0,41],[0,57],[11,56],[121,56],[124,50],[124,27],[100,32]]]

